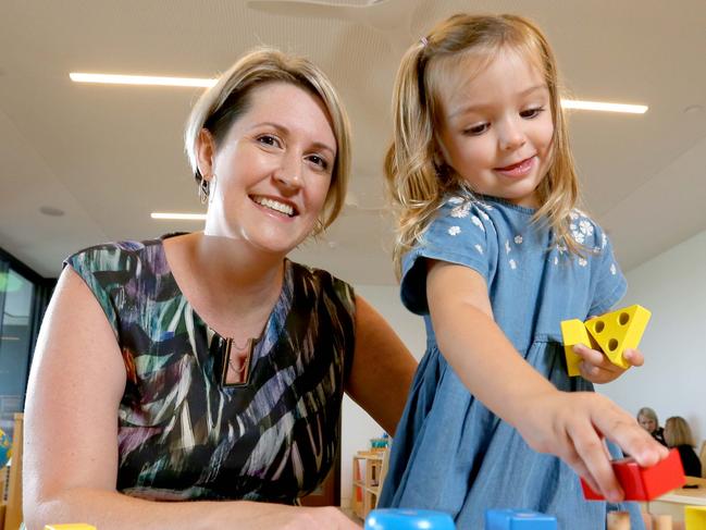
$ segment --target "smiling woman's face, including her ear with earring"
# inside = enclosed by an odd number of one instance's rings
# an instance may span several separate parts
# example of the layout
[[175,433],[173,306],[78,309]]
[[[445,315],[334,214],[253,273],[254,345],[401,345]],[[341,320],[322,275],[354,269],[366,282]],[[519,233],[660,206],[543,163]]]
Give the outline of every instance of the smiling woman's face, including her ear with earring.
[[211,167],[201,174],[215,175],[215,188],[211,183],[206,233],[286,254],[321,214],[336,138],[322,101],[295,85],[268,83],[249,98],[218,148],[208,138]]

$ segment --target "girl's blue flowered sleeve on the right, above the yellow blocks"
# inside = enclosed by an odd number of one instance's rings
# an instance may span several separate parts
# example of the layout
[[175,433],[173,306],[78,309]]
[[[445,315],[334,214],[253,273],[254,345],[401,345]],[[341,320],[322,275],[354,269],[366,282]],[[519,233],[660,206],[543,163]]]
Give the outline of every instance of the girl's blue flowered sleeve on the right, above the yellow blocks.
[[609,311],[628,291],[628,282],[612,252],[612,245],[606,233],[596,225],[595,271],[593,300],[589,316]]

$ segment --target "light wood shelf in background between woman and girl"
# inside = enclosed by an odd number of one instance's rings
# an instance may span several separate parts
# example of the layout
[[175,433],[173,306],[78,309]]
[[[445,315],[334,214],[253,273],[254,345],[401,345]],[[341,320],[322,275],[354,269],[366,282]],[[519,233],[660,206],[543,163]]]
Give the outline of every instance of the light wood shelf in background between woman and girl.
[[359,451],[354,456],[350,507],[356,517],[364,519],[377,506],[388,461],[389,448]]

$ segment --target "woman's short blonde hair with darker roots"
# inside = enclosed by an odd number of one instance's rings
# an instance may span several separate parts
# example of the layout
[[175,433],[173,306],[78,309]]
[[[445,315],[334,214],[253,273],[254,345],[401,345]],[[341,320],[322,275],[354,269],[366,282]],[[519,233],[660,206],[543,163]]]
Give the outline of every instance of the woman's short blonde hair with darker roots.
[[216,148],[222,145],[233,123],[248,111],[252,90],[268,83],[289,83],[319,98],[329,113],[337,153],[331,186],[314,235],[333,223],[346,199],[350,171],[350,125],[340,99],[326,75],[301,57],[274,48],[258,48],[240,58],[198,99],[186,122],[184,147],[197,184],[197,147],[201,130],[208,130]]

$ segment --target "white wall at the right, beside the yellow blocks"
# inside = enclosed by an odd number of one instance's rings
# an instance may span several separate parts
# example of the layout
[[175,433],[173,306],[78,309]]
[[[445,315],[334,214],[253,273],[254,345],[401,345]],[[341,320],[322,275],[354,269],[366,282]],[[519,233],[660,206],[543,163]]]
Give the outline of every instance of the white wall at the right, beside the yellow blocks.
[[645,365],[599,391],[633,414],[654,408],[660,424],[684,417],[699,444],[706,437],[706,231],[626,275],[621,306],[652,311],[640,344]]

